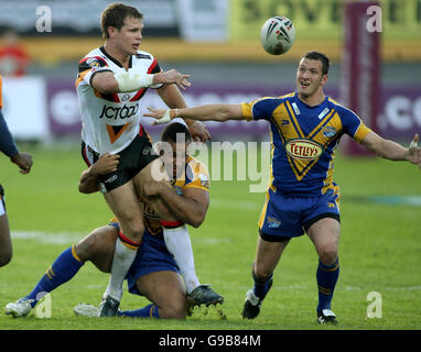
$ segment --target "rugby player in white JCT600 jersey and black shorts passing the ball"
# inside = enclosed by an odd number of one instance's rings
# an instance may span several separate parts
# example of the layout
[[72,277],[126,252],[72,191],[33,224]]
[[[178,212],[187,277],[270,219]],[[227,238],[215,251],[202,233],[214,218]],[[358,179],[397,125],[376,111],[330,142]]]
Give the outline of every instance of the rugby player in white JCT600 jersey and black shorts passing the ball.
[[[186,105],[177,87],[184,89],[190,82],[188,75],[175,69],[161,72],[151,54],[139,51],[143,15],[136,8],[112,3],[102,11],[100,23],[106,43],[79,62],[76,90],[83,120],[82,153],[87,165],[105,153],[120,156],[117,169],[99,178],[105,199],[121,229],[100,307],[101,316],[115,316],[123,278],[144,232],[136,190],[164,175],[152,177],[152,170],[162,169],[161,161],[152,152],[140,124],[139,100],[145,89],[152,87],[166,106],[183,108]],[[194,139],[209,139],[202,123],[185,122]],[[159,200],[155,199],[153,206],[164,220],[177,220],[171,218],[169,209]]]

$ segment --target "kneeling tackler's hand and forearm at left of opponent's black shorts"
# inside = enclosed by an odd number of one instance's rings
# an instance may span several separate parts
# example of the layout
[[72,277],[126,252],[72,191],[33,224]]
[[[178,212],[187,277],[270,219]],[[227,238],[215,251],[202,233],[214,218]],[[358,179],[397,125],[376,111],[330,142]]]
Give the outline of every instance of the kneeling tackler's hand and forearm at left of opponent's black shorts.
[[93,194],[99,190],[98,176],[107,175],[117,170],[120,155],[118,154],[104,154],[101,155],[89,168],[80,174],[79,178],[79,193]]

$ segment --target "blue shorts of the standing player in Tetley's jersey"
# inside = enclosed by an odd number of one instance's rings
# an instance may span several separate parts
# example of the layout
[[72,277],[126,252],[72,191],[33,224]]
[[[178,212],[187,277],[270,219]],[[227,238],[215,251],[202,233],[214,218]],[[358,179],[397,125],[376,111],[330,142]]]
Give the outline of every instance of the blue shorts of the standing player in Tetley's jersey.
[[295,197],[273,193],[269,188],[259,219],[260,237],[279,242],[303,235],[320,219],[334,218],[341,221],[338,200],[337,185],[319,197]]

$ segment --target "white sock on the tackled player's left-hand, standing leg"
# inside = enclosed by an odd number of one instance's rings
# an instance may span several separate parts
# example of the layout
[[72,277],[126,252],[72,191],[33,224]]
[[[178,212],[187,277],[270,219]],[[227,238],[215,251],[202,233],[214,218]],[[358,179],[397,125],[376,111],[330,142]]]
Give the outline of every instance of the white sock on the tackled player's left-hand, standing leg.
[[112,257],[111,276],[105,296],[111,296],[117,300],[122,297],[122,283],[134,261],[137,250],[129,249],[120,238],[117,239],[116,249]]

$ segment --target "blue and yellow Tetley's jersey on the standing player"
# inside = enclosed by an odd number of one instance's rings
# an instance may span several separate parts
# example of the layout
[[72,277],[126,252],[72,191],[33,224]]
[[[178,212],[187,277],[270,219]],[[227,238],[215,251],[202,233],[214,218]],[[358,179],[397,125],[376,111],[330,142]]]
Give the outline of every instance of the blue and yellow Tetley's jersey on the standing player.
[[333,165],[341,136],[358,143],[371,131],[352,110],[327,97],[309,107],[296,92],[241,105],[247,120],[270,122],[270,187],[283,194],[317,196],[333,187]]

